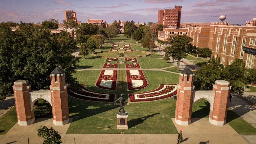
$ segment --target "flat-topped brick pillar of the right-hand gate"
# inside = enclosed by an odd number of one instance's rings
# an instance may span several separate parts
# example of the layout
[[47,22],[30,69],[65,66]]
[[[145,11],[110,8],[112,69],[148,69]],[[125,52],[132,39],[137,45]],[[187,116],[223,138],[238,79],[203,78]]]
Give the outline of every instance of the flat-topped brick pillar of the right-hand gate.
[[230,83],[224,80],[217,80],[213,85],[213,91],[215,91],[213,111],[210,112],[209,121],[216,126],[223,126],[226,123]]

